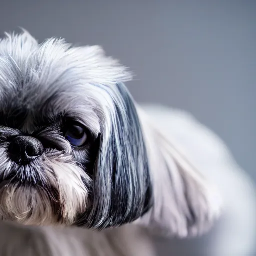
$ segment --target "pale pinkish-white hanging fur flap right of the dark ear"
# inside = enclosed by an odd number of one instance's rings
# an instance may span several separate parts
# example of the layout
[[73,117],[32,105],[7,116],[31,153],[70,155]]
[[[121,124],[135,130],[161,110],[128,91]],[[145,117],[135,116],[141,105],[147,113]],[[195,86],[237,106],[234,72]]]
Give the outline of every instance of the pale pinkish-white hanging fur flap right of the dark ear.
[[[156,114],[161,114],[161,109]],[[194,162],[186,157],[189,152],[184,153],[182,150],[182,136],[173,136],[175,134],[171,134],[171,130],[162,132],[163,126],[171,125],[168,114],[161,119],[161,123],[157,123],[157,128],[144,112],[139,111],[139,116],[150,160],[154,205],[137,223],[147,226],[154,233],[179,237],[207,231],[219,216],[221,200],[218,193],[204,179],[196,162],[195,167]],[[182,128],[190,132],[189,127],[180,126],[177,127],[177,133]],[[190,136],[190,139],[193,138]],[[199,152],[202,153],[199,157],[211,157],[203,155],[201,148]]]

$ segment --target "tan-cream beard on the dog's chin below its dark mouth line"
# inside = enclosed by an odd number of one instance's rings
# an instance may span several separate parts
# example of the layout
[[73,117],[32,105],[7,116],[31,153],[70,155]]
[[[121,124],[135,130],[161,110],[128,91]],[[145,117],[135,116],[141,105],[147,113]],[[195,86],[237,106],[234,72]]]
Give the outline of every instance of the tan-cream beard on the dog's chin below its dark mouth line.
[[25,225],[60,225],[63,205],[59,191],[4,180],[0,184],[0,218]]

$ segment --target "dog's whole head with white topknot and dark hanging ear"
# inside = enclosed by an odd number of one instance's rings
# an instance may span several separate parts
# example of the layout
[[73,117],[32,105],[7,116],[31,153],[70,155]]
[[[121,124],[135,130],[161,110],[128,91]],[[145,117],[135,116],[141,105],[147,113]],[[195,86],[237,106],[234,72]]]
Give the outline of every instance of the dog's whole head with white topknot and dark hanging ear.
[[0,216],[118,226],[150,207],[148,161],[126,68],[100,47],[0,41]]

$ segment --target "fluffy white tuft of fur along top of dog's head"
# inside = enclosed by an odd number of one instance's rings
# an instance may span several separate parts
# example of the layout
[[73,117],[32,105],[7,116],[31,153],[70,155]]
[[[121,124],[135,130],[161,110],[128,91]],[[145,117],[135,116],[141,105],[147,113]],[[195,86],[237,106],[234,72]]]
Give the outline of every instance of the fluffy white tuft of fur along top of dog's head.
[[8,89],[15,88],[19,75],[24,74],[27,82],[44,84],[45,89],[57,83],[59,77],[67,78],[66,83],[72,81],[73,85],[79,80],[83,85],[113,85],[132,78],[127,68],[105,56],[100,46],[71,47],[64,39],[55,38],[39,44],[25,30],[22,34],[6,33],[0,40],[0,60],[0,94],[5,94],[6,85]]

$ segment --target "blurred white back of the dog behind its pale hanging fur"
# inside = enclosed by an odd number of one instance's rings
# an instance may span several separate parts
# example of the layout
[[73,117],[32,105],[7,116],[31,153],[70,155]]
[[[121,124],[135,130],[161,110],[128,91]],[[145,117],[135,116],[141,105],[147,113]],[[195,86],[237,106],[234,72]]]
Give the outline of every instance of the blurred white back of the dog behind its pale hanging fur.
[[[202,238],[201,243],[204,243],[202,249],[194,248],[195,245],[190,241],[183,241],[179,243],[180,248],[175,246],[176,253],[181,254],[181,247],[187,246],[186,251],[191,248],[191,253],[197,255],[204,255],[206,248],[209,256],[254,255],[256,186],[236,163],[228,147],[208,127],[185,111],[159,105],[144,105],[143,109],[149,115],[151,123],[161,130],[165,138],[178,150],[182,151],[182,155],[185,155],[214,186],[214,190],[217,189],[216,195],[221,195],[221,217],[215,222],[211,234]],[[163,184],[165,181],[161,182],[161,185]],[[162,203],[167,204],[169,198],[169,194],[165,194],[165,201]],[[211,200],[211,209],[212,212],[218,213],[216,206],[219,206],[219,197],[215,199]],[[159,221],[162,225],[168,225],[168,220],[159,219]],[[150,228],[151,223],[148,225]],[[197,242],[196,244],[198,246]]]

